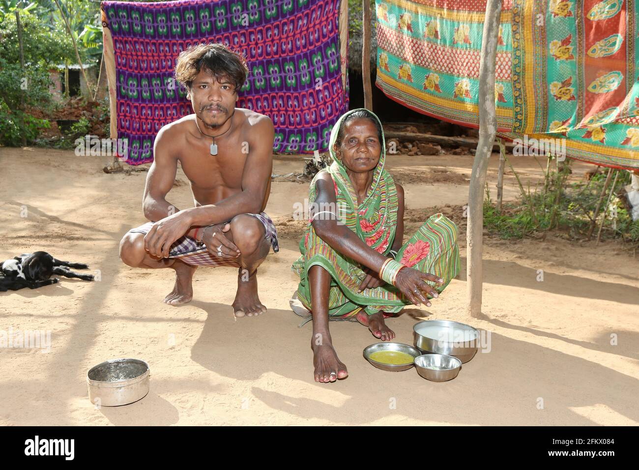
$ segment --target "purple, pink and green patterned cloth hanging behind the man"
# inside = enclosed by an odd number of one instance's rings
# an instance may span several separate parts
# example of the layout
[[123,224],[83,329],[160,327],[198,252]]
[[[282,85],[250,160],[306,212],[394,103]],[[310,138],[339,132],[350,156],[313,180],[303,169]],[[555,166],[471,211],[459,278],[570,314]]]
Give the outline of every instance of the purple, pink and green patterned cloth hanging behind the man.
[[274,152],[327,150],[348,110],[344,7],[341,0],[103,2],[111,137],[128,139],[120,156],[132,165],[153,161],[158,130],[193,112],[174,67],[190,44],[208,42],[247,59],[236,106],[270,116]]

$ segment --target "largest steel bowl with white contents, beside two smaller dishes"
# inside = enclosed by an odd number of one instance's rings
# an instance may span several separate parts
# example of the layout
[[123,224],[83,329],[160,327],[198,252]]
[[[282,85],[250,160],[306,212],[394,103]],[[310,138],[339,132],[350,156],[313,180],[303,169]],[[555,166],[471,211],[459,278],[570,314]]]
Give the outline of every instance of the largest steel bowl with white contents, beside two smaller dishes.
[[424,320],[413,325],[413,340],[415,347],[423,353],[454,356],[467,363],[477,352],[479,331],[450,320]]

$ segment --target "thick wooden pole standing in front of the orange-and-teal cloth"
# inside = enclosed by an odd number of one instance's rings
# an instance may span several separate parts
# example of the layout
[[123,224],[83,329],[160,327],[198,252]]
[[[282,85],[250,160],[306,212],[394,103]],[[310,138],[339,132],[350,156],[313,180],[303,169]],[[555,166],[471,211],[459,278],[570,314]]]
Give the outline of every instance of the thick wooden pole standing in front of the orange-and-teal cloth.
[[482,233],[484,230],[484,184],[488,161],[497,134],[495,114],[495,57],[499,32],[501,0],[486,2],[484,32],[479,63],[479,142],[473,161],[473,172],[468,189],[468,230],[466,233],[466,289],[468,313],[481,316],[482,298]]

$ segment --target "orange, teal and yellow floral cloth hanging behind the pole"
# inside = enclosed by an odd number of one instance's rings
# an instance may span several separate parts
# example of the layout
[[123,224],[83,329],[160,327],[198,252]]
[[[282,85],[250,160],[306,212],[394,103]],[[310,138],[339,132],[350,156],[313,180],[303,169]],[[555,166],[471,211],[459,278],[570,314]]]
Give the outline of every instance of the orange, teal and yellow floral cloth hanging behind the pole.
[[[638,8],[503,0],[498,134],[564,139],[568,157],[639,168]],[[479,127],[485,12],[486,0],[376,0],[378,88],[420,113]]]

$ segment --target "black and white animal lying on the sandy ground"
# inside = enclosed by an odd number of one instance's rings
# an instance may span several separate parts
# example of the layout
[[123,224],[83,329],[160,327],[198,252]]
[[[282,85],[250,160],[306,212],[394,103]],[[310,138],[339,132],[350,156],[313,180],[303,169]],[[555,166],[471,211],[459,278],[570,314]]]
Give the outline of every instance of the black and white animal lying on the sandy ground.
[[88,269],[83,263],[69,263],[56,260],[46,251],[25,253],[11,260],[0,263],[0,292],[19,290],[25,287],[37,289],[58,282],[58,278],[50,279],[53,274],[65,278],[79,278],[93,281],[93,274],[80,274],[73,269]]

